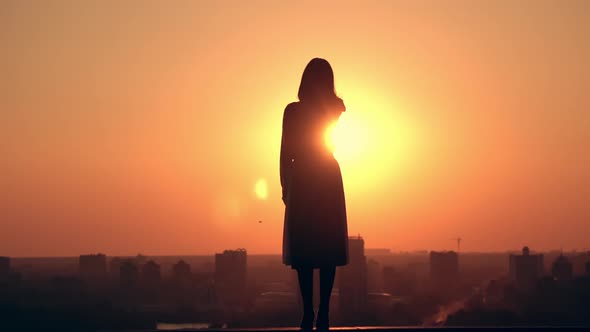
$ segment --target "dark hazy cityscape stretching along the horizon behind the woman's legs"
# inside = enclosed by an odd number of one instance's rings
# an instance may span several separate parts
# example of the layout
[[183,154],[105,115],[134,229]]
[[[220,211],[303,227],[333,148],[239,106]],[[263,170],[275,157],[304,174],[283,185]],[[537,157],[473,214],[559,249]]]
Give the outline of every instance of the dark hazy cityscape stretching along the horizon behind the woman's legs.
[[[365,249],[333,290],[334,326],[588,326],[590,253]],[[317,278],[317,276],[316,276]],[[316,305],[317,305],[317,299]],[[296,273],[279,255],[0,257],[3,326],[293,327]]]

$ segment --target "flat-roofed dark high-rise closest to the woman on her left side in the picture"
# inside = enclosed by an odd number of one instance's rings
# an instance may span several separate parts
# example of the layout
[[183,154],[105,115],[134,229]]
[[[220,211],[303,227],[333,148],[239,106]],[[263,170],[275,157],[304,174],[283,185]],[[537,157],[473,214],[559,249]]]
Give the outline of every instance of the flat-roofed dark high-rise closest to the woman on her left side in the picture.
[[215,254],[215,293],[224,305],[241,306],[246,300],[247,252],[225,250]]

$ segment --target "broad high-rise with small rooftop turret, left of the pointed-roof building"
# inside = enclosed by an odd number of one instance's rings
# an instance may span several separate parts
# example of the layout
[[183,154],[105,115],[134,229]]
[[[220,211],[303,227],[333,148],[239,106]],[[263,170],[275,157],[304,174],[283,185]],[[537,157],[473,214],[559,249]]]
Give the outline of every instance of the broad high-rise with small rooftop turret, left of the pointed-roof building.
[[520,289],[532,289],[543,275],[543,255],[531,254],[529,247],[522,248],[522,255],[511,254],[509,264],[510,279]]

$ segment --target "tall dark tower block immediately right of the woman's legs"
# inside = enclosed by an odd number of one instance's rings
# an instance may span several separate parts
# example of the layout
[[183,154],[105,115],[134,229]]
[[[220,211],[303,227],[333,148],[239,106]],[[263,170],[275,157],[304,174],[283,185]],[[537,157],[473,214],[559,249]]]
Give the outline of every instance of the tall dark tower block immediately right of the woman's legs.
[[348,238],[348,253],[348,265],[337,273],[340,318],[346,324],[360,324],[368,297],[365,241],[360,235]]

